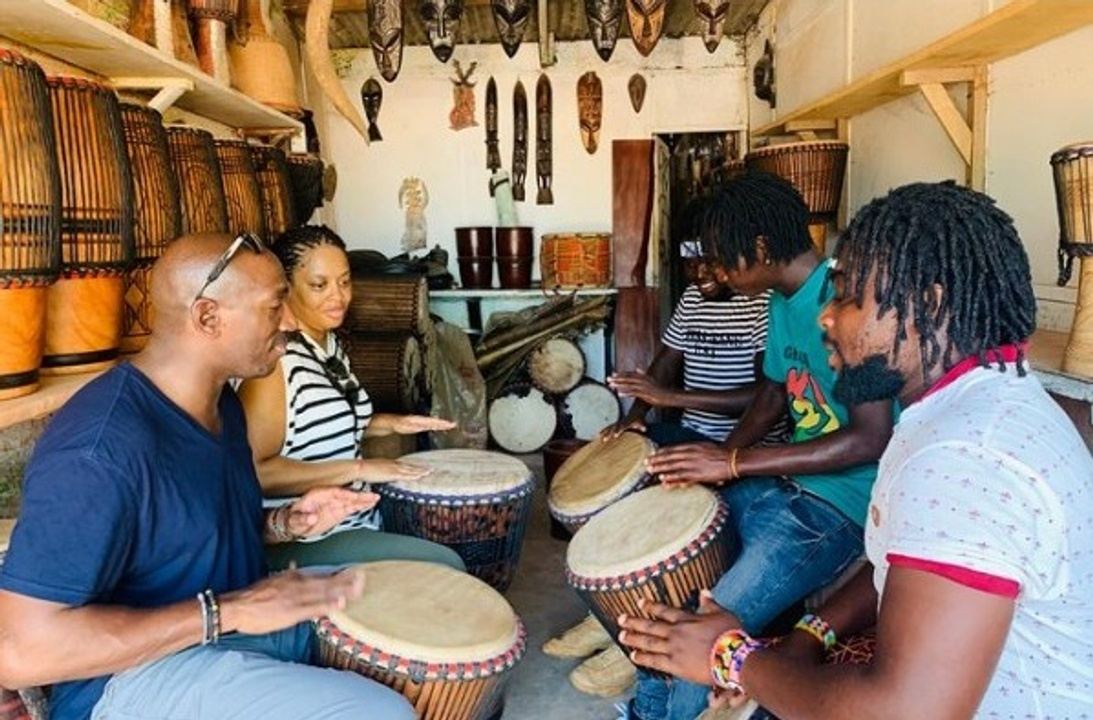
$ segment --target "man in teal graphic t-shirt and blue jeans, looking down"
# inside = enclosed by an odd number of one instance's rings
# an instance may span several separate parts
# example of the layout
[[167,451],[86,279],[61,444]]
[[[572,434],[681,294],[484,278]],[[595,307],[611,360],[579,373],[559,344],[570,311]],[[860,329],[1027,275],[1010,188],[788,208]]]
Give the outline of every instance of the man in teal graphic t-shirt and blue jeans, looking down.
[[[661,448],[648,467],[663,483],[725,485],[738,556],[706,602],[760,633],[861,557],[893,403],[834,393],[816,322],[830,297],[827,263],[813,249],[808,209],[792,186],[763,173],[727,181],[705,203],[697,231],[719,259],[719,282],[743,295],[771,292],[763,373],[724,444]],[[757,446],[787,409],[791,441]],[[700,685],[643,674],[631,715],[692,720],[706,695]]]

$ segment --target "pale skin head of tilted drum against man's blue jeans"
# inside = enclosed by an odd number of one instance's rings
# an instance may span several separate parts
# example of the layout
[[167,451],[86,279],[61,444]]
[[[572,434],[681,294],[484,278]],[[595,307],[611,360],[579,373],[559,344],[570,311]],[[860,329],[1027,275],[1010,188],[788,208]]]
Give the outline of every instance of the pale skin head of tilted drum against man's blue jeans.
[[654,485],[596,515],[569,541],[572,575],[614,578],[663,562],[698,539],[717,520],[717,495],[698,485]]

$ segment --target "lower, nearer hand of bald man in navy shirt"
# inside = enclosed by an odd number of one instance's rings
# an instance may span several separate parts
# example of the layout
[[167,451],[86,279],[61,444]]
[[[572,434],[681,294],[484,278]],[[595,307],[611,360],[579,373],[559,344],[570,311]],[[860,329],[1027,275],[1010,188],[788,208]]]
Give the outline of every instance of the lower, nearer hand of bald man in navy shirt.
[[279,573],[220,598],[221,627],[247,635],[273,633],[342,610],[364,591],[364,571],[334,575]]

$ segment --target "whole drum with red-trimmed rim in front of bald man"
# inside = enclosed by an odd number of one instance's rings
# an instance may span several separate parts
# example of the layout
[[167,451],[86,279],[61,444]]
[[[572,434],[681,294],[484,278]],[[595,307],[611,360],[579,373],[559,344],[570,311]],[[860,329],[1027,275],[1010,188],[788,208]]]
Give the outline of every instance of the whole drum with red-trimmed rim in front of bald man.
[[364,593],[316,624],[320,664],[402,693],[423,720],[497,717],[509,671],[526,649],[512,605],[481,580],[444,565],[357,567]]

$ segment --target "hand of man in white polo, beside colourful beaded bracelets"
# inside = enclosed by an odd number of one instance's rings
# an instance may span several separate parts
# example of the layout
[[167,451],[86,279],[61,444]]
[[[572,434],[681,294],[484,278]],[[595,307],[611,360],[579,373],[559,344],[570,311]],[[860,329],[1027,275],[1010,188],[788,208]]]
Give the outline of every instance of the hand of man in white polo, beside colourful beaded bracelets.
[[654,619],[622,615],[619,641],[632,648],[630,659],[675,677],[710,684],[709,651],[721,634],[740,627],[740,621],[714,602],[708,590],[698,600],[698,613],[640,601]]

